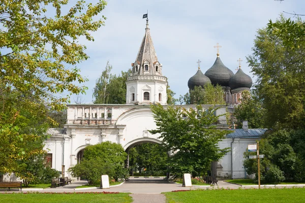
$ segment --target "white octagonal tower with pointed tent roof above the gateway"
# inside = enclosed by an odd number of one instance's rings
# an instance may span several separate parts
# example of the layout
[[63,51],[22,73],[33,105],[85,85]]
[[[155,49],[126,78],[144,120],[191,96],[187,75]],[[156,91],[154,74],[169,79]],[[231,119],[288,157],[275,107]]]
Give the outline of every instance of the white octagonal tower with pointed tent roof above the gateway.
[[166,105],[167,78],[162,75],[162,63],[158,61],[153,41],[150,37],[148,19],[145,35],[138,55],[131,63],[131,76],[127,78],[126,104]]

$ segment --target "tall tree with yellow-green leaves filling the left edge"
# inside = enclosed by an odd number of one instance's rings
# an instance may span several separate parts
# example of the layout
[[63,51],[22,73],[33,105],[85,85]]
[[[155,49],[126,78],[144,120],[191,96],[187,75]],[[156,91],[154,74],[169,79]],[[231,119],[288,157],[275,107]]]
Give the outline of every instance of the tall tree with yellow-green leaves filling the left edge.
[[[41,142],[38,123],[52,122],[48,112],[60,111],[71,94],[84,93],[86,81],[76,67],[86,60],[80,37],[93,41],[106,19],[93,20],[106,5],[67,1],[3,1],[0,21],[0,171],[13,172],[16,161],[44,153],[28,143]],[[64,14],[65,13],[65,14]],[[71,67],[71,68],[70,68]],[[60,95],[64,93],[67,96]],[[60,96],[58,96],[60,95]],[[34,118],[36,124],[26,118]],[[39,118],[39,119],[38,119]],[[45,132],[45,131],[44,131]],[[42,142],[41,142],[42,143]]]

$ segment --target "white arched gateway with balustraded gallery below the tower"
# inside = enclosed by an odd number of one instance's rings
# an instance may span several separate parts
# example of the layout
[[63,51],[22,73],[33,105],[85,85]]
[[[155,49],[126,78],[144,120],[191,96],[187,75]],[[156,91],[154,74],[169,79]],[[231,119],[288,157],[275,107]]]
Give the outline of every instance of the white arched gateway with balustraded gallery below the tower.
[[[196,108],[194,105],[181,107]],[[225,108],[220,107],[216,114],[224,114]],[[219,128],[227,128],[225,116],[220,117],[219,123]],[[141,143],[161,144],[160,134],[148,131],[156,127],[149,105],[68,105],[66,130],[53,131],[45,148],[51,154],[52,166],[60,171],[65,165],[67,171],[77,164],[88,145],[111,141],[128,150]]]

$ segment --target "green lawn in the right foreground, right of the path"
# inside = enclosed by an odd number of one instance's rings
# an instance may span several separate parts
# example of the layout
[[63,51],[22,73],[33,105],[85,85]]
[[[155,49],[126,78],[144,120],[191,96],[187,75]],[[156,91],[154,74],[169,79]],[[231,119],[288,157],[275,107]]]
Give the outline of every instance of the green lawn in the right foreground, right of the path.
[[304,202],[305,188],[286,189],[240,189],[240,190],[191,190],[165,192],[168,203],[215,203],[215,202]]

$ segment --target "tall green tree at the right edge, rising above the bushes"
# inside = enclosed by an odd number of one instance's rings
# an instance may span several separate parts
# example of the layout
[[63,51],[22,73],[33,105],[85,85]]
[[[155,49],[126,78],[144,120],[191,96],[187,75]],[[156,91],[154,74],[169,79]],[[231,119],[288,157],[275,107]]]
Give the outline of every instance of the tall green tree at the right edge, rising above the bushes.
[[[286,26],[281,16],[276,24]],[[300,28],[303,21],[298,22]],[[303,128],[305,126],[305,42],[290,46],[289,30],[278,37],[277,30],[259,29],[254,40],[253,54],[247,57],[257,76],[255,84],[259,100],[266,113],[266,126],[272,128]],[[281,35],[282,35],[281,34]],[[291,35],[294,38],[294,35]]]

